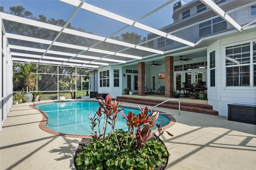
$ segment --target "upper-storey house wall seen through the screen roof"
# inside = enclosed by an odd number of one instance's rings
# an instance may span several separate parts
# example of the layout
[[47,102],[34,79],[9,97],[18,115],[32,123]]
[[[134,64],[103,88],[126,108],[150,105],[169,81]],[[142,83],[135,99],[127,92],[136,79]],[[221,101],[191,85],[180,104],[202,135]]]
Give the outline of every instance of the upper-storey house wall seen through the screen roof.
[[[228,1],[223,1],[223,2],[219,3],[218,6],[220,6],[220,8],[222,8],[222,10],[224,10],[224,11],[230,11],[234,8],[238,8],[240,6],[248,4],[250,2],[252,2],[252,0],[247,0],[247,1],[228,0]],[[180,28],[184,28],[184,27],[194,24],[196,22],[200,22],[204,19],[216,16],[216,14],[214,12],[212,12],[212,10],[210,10],[208,7],[206,7],[206,10],[203,10],[203,11],[197,13],[197,6],[199,4],[202,4],[202,3],[200,1],[192,1],[186,5],[178,8],[177,10],[174,11],[174,14],[173,14],[174,23],[170,24],[160,30],[162,30],[163,32],[171,33],[174,36],[177,36],[184,40],[190,41],[192,43],[198,42],[198,40],[200,40],[201,38],[217,34],[218,32],[215,32],[215,33],[212,32],[212,34],[200,36],[199,35],[199,24],[192,26],[190,28],[185,28],[178,32],[172,33],[173,31],[178,30]],[[247,24],[248,22],[255,20],[255,16],[252,16],[250,14],[250,11],[251,11],[250,8],[251,7],[248,6],[246,8],[242,8],[236,12],[228,13],[228,15],[240,25]],[[190,16],[188,18],[182,19],[182,12],[185,12],[186,10],[190,10]],[[213,25],[213,24],[211,24],[211,25]],[[227,30],[234,29],[230,24],[226,23],[226,25],[227,25]],[[222,30],[220,32],[223,32],[223,31],[224,30]],[[155,38],[155,37],[158,37],[158,36],[154,35],[154,34],[149,34],[148,40]],[[167,50],[175,49],[178,47],[183,47],[185,45],[182,43],[174,42],[172,45],[159,47],[158,39],[156,39],[156,40],[153,40],[152,42],[149,42],[148,46],[152,47],[154,49],[167,51]]]

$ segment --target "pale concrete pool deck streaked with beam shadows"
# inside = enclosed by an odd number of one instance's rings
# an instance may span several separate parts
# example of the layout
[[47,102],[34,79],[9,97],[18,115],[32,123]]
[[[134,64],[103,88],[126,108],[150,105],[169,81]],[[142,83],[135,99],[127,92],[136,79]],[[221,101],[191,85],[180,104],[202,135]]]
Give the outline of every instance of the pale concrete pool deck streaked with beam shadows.
[[[81,138],[49,134],[39,128],[42,115],[29,107],[12,105],[0,132],[0,169],[74,169],[74,153]],[[123,106],[138,107],[124,103]],[[145,107],[140,105],[140,107]],[[151,108],[151,107],[149,107]],[[227,117],[156,108],[173,113],[176,123],[161,138],[171,156],[167,170],[255,170],[256,125]]]

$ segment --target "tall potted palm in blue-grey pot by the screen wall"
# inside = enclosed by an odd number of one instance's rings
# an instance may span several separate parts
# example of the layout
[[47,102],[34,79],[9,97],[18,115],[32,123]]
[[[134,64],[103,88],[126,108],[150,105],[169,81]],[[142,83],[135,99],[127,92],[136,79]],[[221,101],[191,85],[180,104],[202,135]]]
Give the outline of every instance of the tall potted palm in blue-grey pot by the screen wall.
[[41,76],[36,74],[36,64],[35,63],[16,63],[16,67],[19,69],[14,73],[14,80],[21,81],[24,88],[26,88],[26,94],[24,96],[27,98],[28,102],[33,99],[32,92],[37,87],[37,79],[40,80]]

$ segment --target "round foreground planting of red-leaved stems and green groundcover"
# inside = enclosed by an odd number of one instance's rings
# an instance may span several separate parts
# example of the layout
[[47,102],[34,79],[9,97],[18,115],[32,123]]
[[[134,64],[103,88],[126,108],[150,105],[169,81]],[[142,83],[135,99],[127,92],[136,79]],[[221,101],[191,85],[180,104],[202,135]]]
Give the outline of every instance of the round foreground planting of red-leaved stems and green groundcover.
[[[152,127],[158,118],[158,112],[148,114],[148,107],[140,113],[129,112],[128,115],[119,109],[122,103],[111,102],[109,95],[98,99],[100,107],[94,117],[88,116],[91,124],[93,143],[85,146],[76,158],[78,169],[154,169],[162,165],[164,158],[170,156],[166,146],[152,137]],[[115,123],[118,113],[126,119],[128,131],[116,130]],[[104,126],[100,129],[100,119],[104,116]],[[162,124],[162,123],[161,123]],[[162,125],[156,125],[158,138],[164,133]],[[110,125],[112,132],[105,135],[106,127]],[[97,129],[98,127],[98,129]],[[97,129],[97,130],[96,130]],[[168,132],[170,136],[173,136]]]

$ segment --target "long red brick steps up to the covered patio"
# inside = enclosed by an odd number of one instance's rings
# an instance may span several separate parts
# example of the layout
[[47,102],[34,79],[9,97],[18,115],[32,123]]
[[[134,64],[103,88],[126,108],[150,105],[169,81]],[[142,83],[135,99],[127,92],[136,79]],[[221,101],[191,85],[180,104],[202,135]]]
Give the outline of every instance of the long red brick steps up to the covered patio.
[[[163,100],[141,99],[141,98],[133,98],[133,97],[117,97],[116,100],[127,102],[127,103],[148,105],[148,106],[155,106],[163,102]],[[176,109],[176,110],[179,109],[178,102],[175,102],[175,101],[168,101],[166,103],[159,105],[158,107]],[[204,113],[209,115],[218,115],[218,111],[213,110],[212,105],[208,105],[208,104],[180,102],[180,110],[190,111],[195,113]]]

